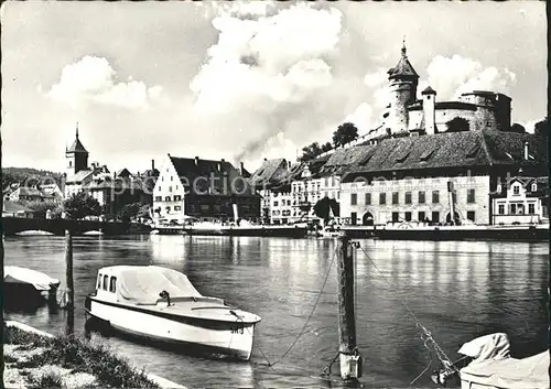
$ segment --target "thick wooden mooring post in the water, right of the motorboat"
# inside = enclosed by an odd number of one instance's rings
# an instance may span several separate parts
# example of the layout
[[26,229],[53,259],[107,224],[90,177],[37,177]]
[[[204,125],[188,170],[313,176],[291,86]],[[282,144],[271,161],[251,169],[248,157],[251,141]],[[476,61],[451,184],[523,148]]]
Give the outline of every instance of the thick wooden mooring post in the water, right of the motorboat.
[[338,358],[341,378],[354,381],[361,377],[361,357],[356,348],[354,312],[354,251],[348,236],[338,237]]

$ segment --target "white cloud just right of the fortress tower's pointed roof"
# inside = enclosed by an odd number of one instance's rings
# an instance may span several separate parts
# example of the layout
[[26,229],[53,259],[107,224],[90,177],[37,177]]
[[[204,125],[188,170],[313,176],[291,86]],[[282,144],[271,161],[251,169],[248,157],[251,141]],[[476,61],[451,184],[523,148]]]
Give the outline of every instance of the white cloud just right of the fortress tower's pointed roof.
[[[456,99],[473,90],[491,90],[504,94],[515,85],[517,77],[507,68],[485,67],[477,61],[457,54],[452,57],[436,55],[426,67],[428,84],[437,93],[439,100]],[[422,90],[422,89],[421,89]]]

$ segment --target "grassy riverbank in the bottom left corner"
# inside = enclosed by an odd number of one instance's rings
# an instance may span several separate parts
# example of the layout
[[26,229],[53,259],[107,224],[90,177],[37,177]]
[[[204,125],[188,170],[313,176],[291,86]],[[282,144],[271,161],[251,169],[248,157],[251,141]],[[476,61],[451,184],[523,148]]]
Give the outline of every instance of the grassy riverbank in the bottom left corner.
[[7,388],[159,388],[107,346],[4,325]]

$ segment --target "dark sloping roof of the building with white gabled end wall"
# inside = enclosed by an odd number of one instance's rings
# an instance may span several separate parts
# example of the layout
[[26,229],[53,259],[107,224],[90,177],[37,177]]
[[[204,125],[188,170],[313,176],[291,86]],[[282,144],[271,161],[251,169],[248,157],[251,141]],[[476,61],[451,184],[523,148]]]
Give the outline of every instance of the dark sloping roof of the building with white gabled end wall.
[[233,188],[235,188],[236,192],[239,192],[235,193],[236,195],[255,195],[255,191],[251,188],[247,180],[245,180],[239,174],[239,171],[227,161],[198,159],[196,164],[195,159],[193,158],[171,156],[170,159],[179,177],[181,180],[184,177],[186,179],[182,181],[182,184],[184,186],[194,185],[193,188],[195,188],[198,193],[206,194],[210,187],[213,192],[226,193],[228,195],[231,194],[230,192]]

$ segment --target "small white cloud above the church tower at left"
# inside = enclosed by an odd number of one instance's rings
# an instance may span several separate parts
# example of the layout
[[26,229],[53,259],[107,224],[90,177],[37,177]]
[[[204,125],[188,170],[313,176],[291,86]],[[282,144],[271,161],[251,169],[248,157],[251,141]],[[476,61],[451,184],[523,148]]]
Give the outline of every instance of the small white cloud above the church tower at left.
[[161,100],[162,91],[160,85],[149,87],[131,77],[127,82],[119,82],[117,73],[106,58],[86,55],[78,62],[66,65],[60,82],[46,95],[73,108],[100,104],[147,109],[152,102]]

